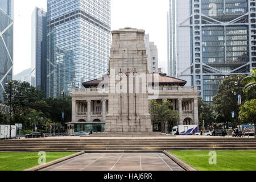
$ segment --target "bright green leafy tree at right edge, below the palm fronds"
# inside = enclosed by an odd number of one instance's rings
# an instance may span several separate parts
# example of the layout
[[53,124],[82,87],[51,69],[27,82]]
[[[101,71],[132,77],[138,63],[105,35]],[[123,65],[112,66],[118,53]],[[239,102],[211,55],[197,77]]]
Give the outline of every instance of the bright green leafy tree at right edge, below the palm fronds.
[[247,101],[240,107],[239,118],[245,123],[250,123],[253,121],[254,126],[256,126],[256,99]]

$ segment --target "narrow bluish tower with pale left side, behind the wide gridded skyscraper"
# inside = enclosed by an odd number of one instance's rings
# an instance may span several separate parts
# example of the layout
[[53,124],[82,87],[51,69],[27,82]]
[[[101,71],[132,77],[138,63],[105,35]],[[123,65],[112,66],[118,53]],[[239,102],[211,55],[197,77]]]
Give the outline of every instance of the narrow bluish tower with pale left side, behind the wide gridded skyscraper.
[[31,85],[46,93],[46,11],[35,7],[32,13]]

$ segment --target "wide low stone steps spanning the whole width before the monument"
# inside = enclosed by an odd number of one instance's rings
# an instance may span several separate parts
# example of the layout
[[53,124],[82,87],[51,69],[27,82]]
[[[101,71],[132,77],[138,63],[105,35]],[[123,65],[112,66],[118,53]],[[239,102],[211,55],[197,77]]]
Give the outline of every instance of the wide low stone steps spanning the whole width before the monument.
[[0,152],[85,151],[162,152],[164,150],[256,150],[256,139],[242,138],[86,138],[0,140]]

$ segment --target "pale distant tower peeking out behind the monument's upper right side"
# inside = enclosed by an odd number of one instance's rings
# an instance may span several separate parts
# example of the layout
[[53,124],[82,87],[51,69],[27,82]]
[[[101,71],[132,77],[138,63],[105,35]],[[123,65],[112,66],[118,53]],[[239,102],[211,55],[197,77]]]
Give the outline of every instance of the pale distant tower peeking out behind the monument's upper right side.
[[144,36],[147,54],[147,69],[149,73],[158,72],[158,48],[154,42],[150,42],[149,35]]

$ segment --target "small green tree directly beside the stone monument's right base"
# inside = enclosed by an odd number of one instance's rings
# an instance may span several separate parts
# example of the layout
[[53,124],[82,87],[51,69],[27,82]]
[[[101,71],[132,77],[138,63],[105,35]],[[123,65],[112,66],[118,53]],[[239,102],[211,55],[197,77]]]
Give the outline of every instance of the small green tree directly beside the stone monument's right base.
[[150,114],[152,116],[152,122],[160,125],[161,131],[168,133],[168,130],[177,125],[179,121],[179,112],[173,110],[173,105],[170,101],[163,101],[160,104],[158,102],[150,102]]

